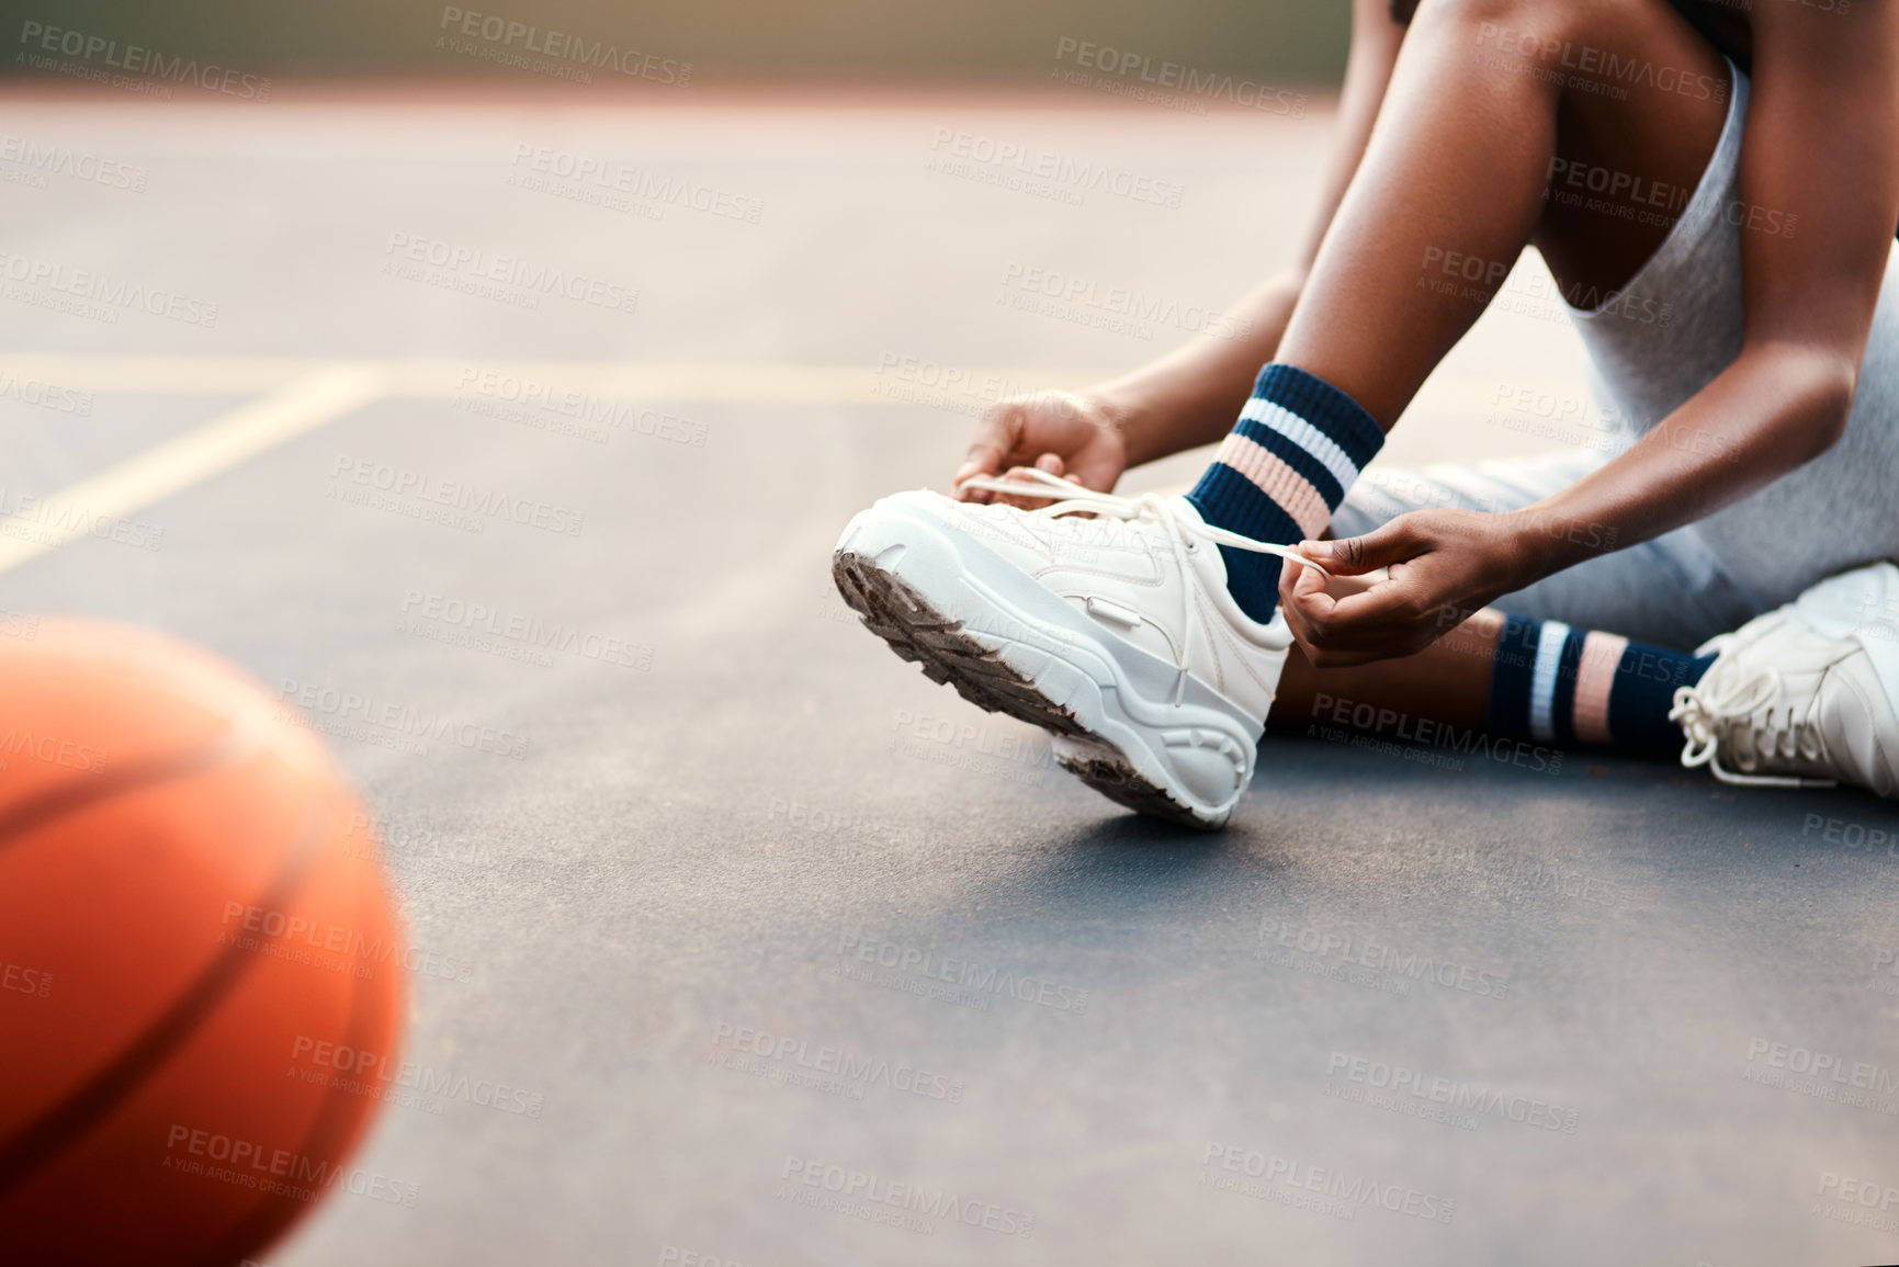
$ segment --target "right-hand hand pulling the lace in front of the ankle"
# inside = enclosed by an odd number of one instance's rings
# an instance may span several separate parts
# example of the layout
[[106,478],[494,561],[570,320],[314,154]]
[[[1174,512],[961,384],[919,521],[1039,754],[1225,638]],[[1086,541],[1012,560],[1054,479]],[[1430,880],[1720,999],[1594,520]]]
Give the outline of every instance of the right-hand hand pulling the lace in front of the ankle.
[[1326,577],[1286,564],[1286,623],[1318,669],[1413,655],[1477,608],[1534,579],[1512,515],[1413,511],[1362,538],[1301,541],[1333,576],[1386,570],[1369,589],[1333,598]]

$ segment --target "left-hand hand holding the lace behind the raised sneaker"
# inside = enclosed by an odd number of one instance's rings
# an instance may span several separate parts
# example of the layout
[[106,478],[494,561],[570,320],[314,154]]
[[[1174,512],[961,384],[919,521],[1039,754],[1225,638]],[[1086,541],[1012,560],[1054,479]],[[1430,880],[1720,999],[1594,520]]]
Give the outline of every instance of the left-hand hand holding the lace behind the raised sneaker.
[[1098,492],[1111,492],[1128,469],[1128,446],[1107,407],[1073,391],[1039,391],[991,405],[976,425],[968,458],[955,473],[963,501],[1006,501],[1024,509],[1046,498],[1008,498],[982,488],[963,488],[970,475],[1003,475],[1035,465]]

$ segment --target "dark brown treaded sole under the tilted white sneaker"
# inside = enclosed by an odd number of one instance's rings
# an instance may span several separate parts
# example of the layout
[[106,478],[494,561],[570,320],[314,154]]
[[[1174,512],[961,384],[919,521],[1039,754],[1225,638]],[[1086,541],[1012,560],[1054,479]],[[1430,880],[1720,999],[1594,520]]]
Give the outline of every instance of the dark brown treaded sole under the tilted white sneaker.
[[1054,703],[1033,678],[1003,661],[1001,653],[963,633],[965,623],[938,612],[902,577],[875,558],[839,549],[832,555],[837,593],[864,619],[864,629],[883,638],[902,659],[923,669],[932,682],[987,712],[1041,726],[1056,737],[1054,758],[1090,788],[1119,805],[1202,832],[1227,824],[1223,813],[1208,821],[1181,805],[1166,788],[1141,775],[1126,754],[1096,735],[1073,710]]

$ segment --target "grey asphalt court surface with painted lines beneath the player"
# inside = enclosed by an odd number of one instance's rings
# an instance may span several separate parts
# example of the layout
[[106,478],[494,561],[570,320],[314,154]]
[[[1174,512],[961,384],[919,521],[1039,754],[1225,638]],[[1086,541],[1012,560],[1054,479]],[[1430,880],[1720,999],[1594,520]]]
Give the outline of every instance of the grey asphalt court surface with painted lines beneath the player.
[[[509,1088],[387,1104],[416,1204],[272,1267],[1899,1256],[1886,804],[1312,737],[1187,834],[830,587],[1005,386],[1284,266],[1324,103],[11,106],[144,179],[0,160],[0,608],[302,701],[429,954],[408,1058]],[[1540,277],[1382,460],[1589,443]]]

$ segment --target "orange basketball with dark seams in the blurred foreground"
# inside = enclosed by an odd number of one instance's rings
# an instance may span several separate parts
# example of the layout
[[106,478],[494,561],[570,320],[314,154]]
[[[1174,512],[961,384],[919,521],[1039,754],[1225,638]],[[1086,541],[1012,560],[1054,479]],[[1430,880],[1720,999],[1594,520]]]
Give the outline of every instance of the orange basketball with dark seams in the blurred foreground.
[[330,1189],[414,1202],[348,1164],[404,997],[368,830],[211,653],[0,629],[0,1258],[235,1263]]

